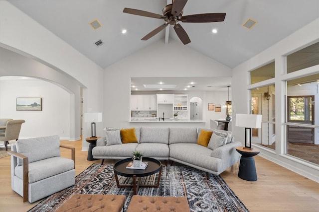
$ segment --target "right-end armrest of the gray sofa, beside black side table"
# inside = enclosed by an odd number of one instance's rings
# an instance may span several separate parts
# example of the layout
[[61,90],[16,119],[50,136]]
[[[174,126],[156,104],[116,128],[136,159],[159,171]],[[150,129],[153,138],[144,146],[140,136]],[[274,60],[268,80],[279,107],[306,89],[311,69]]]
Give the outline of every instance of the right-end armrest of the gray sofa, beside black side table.
[[236,151],[237,146],[241,146],[241,142],[234,141],[234,142],[228,143],[226,145],[223,145],[214,149],[211,152],[210,156],[217,157],[222,160],[228,160],[228,158],[229,159],[234,158],[236,159],[236,161],[238,161],[240,158],[240,154]]

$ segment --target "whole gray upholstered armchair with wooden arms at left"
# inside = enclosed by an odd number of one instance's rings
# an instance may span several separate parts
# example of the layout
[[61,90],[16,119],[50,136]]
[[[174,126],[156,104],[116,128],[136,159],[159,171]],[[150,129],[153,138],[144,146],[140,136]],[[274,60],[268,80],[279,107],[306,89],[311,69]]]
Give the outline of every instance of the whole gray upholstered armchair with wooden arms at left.
[[[60,147],[72,159],[60,157]],[[16,141],[11,147],[11,188],[33,203],[75,184],[75,148],[60,144],[59,136]]]

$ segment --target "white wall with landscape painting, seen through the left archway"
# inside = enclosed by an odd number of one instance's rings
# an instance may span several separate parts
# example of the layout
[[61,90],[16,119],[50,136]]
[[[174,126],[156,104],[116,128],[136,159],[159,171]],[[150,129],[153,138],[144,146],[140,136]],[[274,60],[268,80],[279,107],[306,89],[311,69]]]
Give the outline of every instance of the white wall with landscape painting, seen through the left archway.
[[[17,97],[41,97],[42,111],[16,111]],[[58,135],[70,138],[70,95],[44,80],[0,77],[0,114],[2,118],[23,119],[19,138]]]

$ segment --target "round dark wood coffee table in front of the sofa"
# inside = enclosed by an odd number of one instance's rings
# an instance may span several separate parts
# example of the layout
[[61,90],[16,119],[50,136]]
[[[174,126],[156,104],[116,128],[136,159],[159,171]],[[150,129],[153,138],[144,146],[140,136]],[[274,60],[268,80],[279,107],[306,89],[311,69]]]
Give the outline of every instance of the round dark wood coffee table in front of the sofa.
[[[119,160],[113,165],[114,176],[118,188],[133,187],[134,195],[137,195],[139,187],[158,188],[160,185],[161,162],[155,158],[143,157],[143,162],[148,162],[146,169],[127,169],[126,166],[132,162],[132,158]],[[140,184],[141,177],[149,176],[159,172],[157,184]],[[133,177],[133,184],[120,184],[118,175]]]

